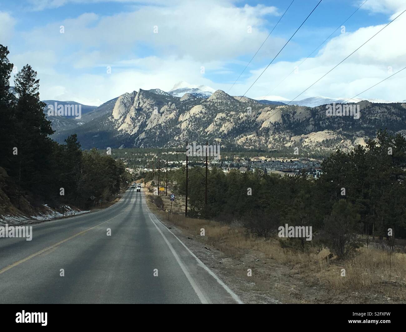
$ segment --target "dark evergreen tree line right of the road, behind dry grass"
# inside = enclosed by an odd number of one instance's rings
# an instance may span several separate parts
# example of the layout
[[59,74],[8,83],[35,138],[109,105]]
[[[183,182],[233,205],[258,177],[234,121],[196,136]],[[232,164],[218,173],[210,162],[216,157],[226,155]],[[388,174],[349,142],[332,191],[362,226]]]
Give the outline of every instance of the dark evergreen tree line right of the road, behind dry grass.
[[[312,226],[316,242],[349,255],[360,234],[383,240],[406,238],[406,140],[386,130],[365,147],[340,150],[322,163],[320,178],[281,177],[259,170],[225,174],[190,167],[188,195],[191,216],[243,223],[251,232],[276,236],[279,226]],[[186,169],[171,175],[175,190],[185,195]],[[298,245],[304,249],[305,243]]]

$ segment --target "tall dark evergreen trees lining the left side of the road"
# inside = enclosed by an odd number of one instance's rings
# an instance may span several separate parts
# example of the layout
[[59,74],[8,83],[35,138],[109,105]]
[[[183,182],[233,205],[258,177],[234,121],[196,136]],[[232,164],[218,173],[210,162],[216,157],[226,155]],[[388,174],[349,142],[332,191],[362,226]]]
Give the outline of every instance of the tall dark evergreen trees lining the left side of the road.
[[111,200],[129,178],[124,165],[97,150],[82,151],[76,135],[65,144],[53,141],[37,72],[26,64],[14,77],[13,93],[8,54],[0,45],[0,212],[8,205],[29,211],[44,203],[87,208]]

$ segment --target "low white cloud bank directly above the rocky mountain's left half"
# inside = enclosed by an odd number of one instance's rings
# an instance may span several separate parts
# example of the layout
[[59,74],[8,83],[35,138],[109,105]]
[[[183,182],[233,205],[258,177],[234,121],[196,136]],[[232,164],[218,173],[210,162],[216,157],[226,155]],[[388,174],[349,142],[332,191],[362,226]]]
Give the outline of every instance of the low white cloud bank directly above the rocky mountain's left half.
[[[128,64],[132,64],[132,68]],[[209,62],[210,70],[220,70],[222,64]],[[140,88],[149,90],[160,88],[168,91],[174,82],[199,82],[217,88],[211,80],[200,72],[199,63],[190,58],[161,59],[155,56],[121,62],[112,65],[111,73],[106,67],[100,67],[98,74],[82,73],[76,75],[38,74],[40,81],[41,99],[73,100],[85,105],[100,105],[125,92],[132,92]]]

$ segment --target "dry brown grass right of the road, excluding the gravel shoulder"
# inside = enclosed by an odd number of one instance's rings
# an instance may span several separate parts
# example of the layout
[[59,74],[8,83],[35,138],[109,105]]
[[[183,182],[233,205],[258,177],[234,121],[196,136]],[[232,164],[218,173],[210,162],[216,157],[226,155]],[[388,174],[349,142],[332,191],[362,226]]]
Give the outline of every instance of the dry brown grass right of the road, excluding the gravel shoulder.
[[[150,202],[149,206],[162,221],[168,220],[167,213],[158,211]],[[186,218],[182,214],[172,214],[170,223],[233,259],[238,260],[248,254],[262,261],[268,259],[273,264],[272,269],[281,269],[281,275],[273,273],[271,278],[271,271],[259,266],[262,269],[260,274],[257,273],[250,281],[255,281],[256,288],[277,293],[284,302],[320,303],[325,300],[328,303],[346,303],[345,299],[354,293],[362,293],[364,301],[370,300],[371,303],[382,303],[387,298],[391,298],[393,303],[406,301],[406,256],[402,253],[392,253],[391,267],[389,253],[371,247],[358,249],[358,255],[352,259],[337,261],[335,257],[328,259],[328,248],[320,251],[320,248],[308,246],[307,251],[301,253],[292,248],[282,248],[279,239],[253,236],[239,225]],[[205,236],[200,236],[202,228]],[[267,267],[269,269],[270,265]],[[345,276],[341,276],[342,269],[345,269]],[[309,289],[316,287],[317,300],[309,300],[311,296],[306,298],[298,295],[297,291],[292,294],[292,277],[302,280]],[[306,291],[305,288],[303,290]],[[371,295],[375,302],[371,300]],[[337,301],[331,300],[331,297]]]

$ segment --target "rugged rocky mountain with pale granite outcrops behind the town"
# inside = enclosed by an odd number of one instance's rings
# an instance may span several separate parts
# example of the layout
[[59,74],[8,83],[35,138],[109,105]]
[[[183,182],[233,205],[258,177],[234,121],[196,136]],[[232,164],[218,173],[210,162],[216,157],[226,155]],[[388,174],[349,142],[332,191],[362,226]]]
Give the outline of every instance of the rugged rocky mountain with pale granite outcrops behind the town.
[[[176,90],[176,89],[175,89]],[[354,104],[350,104],[354,105]],[[220,142],[225,147],[350,151],[387,128],[406,135],[405,103],[360,101],[360,118],[326,116],[326,106],[263,105],[216,90],[202,99],[161,90],[125,93],[86,114],[86,122],[60,131],[62,142],[78,134],[83,148],[181,147],[186,141]],[[96,113],[97,111],[97,113]],[[97,116],[96,116],[97,115]]]

